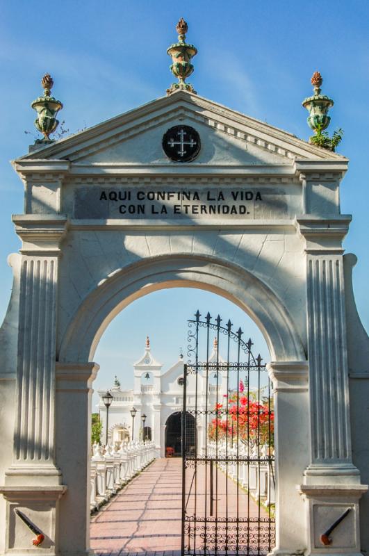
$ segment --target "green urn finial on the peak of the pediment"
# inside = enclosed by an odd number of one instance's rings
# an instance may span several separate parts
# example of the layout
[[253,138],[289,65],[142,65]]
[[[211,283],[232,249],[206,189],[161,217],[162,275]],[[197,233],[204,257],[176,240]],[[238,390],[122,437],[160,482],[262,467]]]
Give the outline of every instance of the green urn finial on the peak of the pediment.
[[185,83],[186,77],[190,76],[193,72],[193,65],[190,61],[193,56],[196,56],[197,49],[193,44],[187,44],[185,42],[188,24],[185,22],[183,17],[179,19],[179,22],[176,25],[176,30],[178,33],[178,42],[170,45],[167,49],[167,54],[172,57],[170,71],[177,77],[179,82],[172,83],[172,85],[170,85],[170,88],[167,89],[167,95],[170,95],[172,92],[179,89],[196,93],[190,83]]

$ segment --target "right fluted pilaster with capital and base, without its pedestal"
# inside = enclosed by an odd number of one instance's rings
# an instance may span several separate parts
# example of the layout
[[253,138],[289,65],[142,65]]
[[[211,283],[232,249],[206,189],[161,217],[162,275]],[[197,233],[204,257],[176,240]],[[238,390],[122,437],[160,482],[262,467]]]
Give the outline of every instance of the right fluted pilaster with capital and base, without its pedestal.
[[[306,240],[306,295],[311,406],[308,482],[345,476],[359,482],[352,464],[343,249],[351,217],[301,217]],[[309,477],[312,477],[311,480]],[[321,481],[318,478],[325,477]]]

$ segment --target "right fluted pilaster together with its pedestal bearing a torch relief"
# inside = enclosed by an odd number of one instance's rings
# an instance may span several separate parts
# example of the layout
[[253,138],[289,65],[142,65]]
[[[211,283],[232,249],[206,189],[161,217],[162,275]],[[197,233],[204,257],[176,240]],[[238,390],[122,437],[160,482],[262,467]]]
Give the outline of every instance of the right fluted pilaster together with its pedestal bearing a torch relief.
[[350,221],[347,215],[297,219],[306,240],[311,428],[311,461],[300,493],[306,500],[308,548],[315,554],[325,553],[322,534],[347,509],[327,546],[360,552],[359,498],[368,489],[352,464],[342,249]]

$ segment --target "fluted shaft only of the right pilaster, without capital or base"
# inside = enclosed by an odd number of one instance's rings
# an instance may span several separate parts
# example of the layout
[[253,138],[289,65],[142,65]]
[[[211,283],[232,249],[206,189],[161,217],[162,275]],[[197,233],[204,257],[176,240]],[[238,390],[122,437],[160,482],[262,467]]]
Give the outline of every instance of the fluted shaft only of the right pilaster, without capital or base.
[[307,259],[313,461],[351,461],[343,258]]

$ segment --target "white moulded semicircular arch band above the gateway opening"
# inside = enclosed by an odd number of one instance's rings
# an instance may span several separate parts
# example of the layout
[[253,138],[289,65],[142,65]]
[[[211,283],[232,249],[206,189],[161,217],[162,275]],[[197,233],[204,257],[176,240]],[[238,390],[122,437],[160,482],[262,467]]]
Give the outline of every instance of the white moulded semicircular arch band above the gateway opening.
[[259,326],[274,361],[302,361],[306,352],[284,304],[263,282],[211,256],[156,256],[116,270],[83,300],[59,350],[59,361],[92,361],[111,320],[131,302],[165,288],[217,293],[240,306]]

